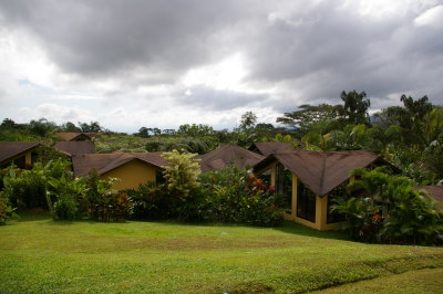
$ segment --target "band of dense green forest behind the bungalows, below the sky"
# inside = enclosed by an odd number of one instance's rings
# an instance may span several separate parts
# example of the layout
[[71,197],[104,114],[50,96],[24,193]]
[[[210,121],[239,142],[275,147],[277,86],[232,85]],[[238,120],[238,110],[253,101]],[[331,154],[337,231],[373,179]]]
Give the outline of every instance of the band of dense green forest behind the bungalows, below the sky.
[[341,104],[297,107],[277,118],[278,127],[258,122],[256,114],[243,115],[238,127],[216,130],[209,125],[185,124],[178,129],[142,126],[128,135],[115,133],[99,122],[58,125],[45,118],[18,124],[10,118],[0,125],[0,140],[40,140],[53,144],[58,132],[101,133],[99,153],[168,151],[184,149],[205,154],[219,144],[249,147],[256,141],[286,141],[309,150],[375,151],[399,167],[416,185],[435,185],[443,179],[443,107],[426,96],[402,95],[402,106],[390,106],[370,115],[371,102],[364,92],[342,92]]

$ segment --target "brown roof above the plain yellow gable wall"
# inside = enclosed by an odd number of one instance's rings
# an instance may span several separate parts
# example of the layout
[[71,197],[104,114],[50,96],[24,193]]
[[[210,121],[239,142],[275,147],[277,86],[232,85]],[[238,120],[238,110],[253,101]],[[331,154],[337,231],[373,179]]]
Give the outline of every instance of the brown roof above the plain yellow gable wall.
[[92,169],[96,169],[99,175],[103,175],[132,160],[162,168],[167,165],[167,161],[161,155],[162,153],[82,154],[72,157],[72,165],[76,177],[86,176]]

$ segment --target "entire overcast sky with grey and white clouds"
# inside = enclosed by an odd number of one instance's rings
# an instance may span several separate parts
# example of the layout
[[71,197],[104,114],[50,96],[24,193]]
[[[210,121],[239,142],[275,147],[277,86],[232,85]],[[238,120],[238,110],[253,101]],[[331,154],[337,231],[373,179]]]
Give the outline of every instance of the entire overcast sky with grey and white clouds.
[[276,123],[364,91],[443,104],[443,0],[0,0],[0,119]]

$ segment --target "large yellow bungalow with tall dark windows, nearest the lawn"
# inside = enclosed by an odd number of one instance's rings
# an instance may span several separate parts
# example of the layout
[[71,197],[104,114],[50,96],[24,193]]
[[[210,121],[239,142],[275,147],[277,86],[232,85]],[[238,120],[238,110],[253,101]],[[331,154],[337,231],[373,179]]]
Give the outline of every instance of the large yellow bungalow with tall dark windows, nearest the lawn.
[[281,196],[285,218],[317,230],[330,230],[346,221],[331,213],[331,200],[342,197],[354,168],[385,164],[372,151],[309,151],[289,149],[256,164],[257,175],[268,175]]

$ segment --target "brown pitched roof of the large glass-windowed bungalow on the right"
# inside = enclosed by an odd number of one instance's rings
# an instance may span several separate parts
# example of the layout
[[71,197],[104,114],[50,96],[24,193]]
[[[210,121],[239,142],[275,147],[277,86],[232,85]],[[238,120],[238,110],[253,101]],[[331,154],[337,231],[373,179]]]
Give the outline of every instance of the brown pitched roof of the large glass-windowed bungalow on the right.
[[312,192],[324,196],[350,178],[354,168],[364,168],[378,160],[372,151],[309,151],[288,150],[268,156],[254,169],[259,171],[278,160],[295,174]]

